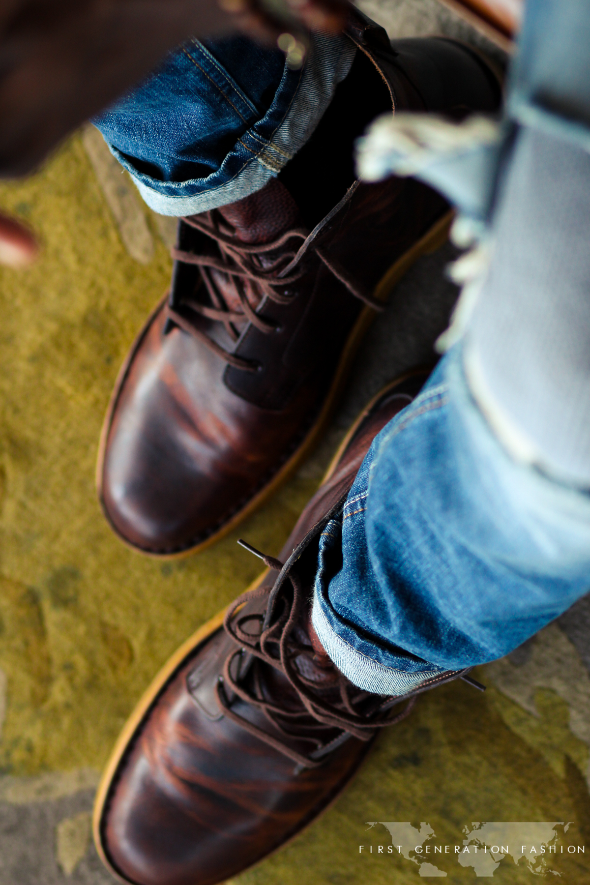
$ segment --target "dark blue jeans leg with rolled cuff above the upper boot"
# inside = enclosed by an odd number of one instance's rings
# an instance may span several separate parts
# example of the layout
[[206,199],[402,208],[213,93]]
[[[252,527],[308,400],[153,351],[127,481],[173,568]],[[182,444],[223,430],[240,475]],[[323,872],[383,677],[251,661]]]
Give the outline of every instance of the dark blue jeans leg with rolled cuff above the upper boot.
[[245,37],[189,41],[93,120],[162,215],[191,215],[264,187],[303,147],[356,46],[318,35],[300,71]]

